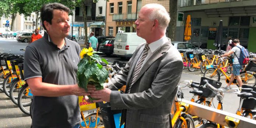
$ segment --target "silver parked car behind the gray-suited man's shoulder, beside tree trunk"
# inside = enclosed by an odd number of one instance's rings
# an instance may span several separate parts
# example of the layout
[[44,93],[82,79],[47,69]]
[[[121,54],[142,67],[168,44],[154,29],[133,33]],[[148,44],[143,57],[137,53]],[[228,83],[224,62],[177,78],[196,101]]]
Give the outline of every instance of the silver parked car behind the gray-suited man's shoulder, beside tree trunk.
[[171,43],[176,49],[182,51],[193,51],[193,49],[196,49],[196,47],[189,42],[172,41]]

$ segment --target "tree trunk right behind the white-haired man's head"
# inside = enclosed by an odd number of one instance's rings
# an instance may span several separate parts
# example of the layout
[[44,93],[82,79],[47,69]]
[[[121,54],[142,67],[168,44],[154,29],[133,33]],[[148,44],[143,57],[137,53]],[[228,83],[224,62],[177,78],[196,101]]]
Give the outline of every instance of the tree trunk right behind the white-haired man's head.
[[171,21],[169,23],[168,37],[174,41],[176,40],[177,0],[170,0],[169,8]]

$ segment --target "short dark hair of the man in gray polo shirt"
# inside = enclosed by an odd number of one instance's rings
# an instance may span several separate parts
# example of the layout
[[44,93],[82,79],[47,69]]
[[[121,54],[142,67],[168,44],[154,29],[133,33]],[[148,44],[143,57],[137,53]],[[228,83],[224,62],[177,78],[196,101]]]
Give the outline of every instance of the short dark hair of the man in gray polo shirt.
[[[70,13],[70,8],[64,6],[60,3],[49,3],[45,4],[41,8],[41,20],[42,24],[44,21],[47,21],[51,24],[51,19],[53,19],[53,10],[61,10],[67,13]],[[43,24],[43,28],[46,30],[45,25]]]

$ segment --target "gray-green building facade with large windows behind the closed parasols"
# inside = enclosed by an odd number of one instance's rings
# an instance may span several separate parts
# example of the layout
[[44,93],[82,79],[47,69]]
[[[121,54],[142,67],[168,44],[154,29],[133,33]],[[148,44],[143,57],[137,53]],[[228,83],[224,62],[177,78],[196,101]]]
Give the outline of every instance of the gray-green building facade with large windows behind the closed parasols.
[[178,13],[184,14],[183,21],[177,21],[177,40],[183,41],[187,15],[191,15],[191,42],[213,46],[220,20],[223,21],[223,44],[227,37],[238,38],[242,46],[256,52],[256,1],[255,0],[180,0]]

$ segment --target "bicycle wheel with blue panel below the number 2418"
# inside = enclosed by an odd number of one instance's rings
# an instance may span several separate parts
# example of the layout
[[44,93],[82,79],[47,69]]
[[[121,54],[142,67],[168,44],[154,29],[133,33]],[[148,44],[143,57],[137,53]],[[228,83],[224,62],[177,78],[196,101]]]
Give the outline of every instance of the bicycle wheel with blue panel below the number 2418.
[[[85,117],[85,122],[87,124],[87,126],[89,128],[95,128],[96,126],[96,113],[90,114],[87,117]],[[83,124],[84,122],[81,123],[81,125],[85,126],[85,124]],[[97,128],[99,127],[104,127],[104,123],[103,123],[103,118],[101,113],[98,113],[98,117],[97,117]]]

